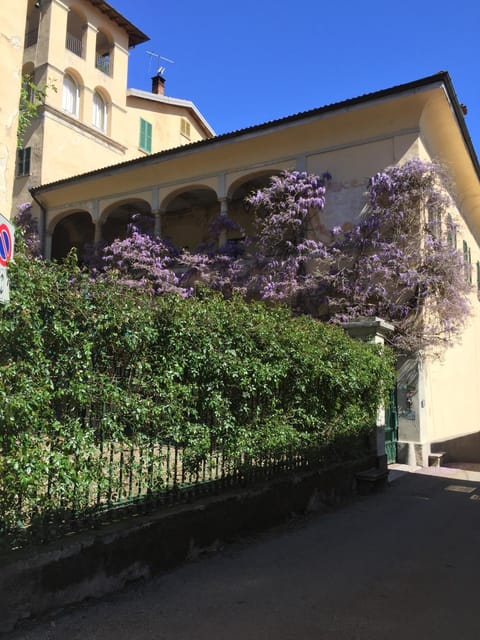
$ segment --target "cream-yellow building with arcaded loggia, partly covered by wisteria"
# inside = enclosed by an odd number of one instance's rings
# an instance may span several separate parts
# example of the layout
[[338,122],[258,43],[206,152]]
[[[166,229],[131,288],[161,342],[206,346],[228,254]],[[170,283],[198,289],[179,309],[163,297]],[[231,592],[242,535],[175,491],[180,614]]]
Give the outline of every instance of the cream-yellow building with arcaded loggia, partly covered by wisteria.
[[[47,256],[71,246],[125,233],[132,211],[155,219],[156,232],[193,249],[219,213],[248,232],[242,201],[282,169],[333,179],[319,214],[321,237],[348,228],[364,205],[370,176],[411,158],[436,159],[448,169],[458,220],[458,246],[480,275],[480,168],[450,77],[441,72],[414,82],[178,146],[43,184],[32,189],[43,221]],[[235,240],[232,232],[231,240]],[[427,465],[432,447],[480,433],[480,302],[472,286],[472,317],[442,360],[417,357],[399,371],[398,452]],[[480,436],[475,436],[479,437]],[[438,445],[438,443],[442,443]],[[473,448],[470,447],[473,452]],[[480,460],[480,446],[476,455]]]

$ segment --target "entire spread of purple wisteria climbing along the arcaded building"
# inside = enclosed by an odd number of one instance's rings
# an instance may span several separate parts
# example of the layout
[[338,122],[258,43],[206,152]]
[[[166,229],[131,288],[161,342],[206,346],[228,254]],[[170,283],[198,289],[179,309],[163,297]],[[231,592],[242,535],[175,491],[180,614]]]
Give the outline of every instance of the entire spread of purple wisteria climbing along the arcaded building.
[[125,239],[95,249],[97,277],[183,297],[202,285],[334,323],[381,316],[393,323],[399,352],[441,351],[464,326],[470,291],[445,173],[417,159],[376,174],[362,213],[352,212],[353,228],[334,227],[325,242],[330,181],[328,173],[286,171],[250,194],[256,236],[240,256],[228,243],[219,247],[220,231],[235,224],[225,216],[194,253],[134,220]]

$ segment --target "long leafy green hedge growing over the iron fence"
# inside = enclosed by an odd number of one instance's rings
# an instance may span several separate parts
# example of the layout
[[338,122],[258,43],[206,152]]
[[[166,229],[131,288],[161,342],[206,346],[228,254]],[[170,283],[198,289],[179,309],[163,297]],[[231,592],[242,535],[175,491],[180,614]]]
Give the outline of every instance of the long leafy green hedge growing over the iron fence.
[[74,257],[19,255],[0,308],[0,521],[21,496],[43,508],[46,476],[60,502],[82,473],[88,485],[106,439],[154,436],[192,466],[212,449],[346,442],[375,423],[392,362],[287,309],[207,291],[154,299],[90,280]]

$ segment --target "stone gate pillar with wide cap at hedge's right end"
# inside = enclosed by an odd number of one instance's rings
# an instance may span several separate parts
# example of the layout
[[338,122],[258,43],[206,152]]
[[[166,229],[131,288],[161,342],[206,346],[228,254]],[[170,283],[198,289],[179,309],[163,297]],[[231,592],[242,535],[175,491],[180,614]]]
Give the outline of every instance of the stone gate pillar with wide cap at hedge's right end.
[[[345,322],[342,327],[349,336],[364,342],[385,344],[385,336],[393,333],[394,326],[382,318],[357,318]],[[385,407],[378,410],[376,421],[375,451],[377,454],[377,467],[379,470],[387,470],[387,454],[385,452]]]

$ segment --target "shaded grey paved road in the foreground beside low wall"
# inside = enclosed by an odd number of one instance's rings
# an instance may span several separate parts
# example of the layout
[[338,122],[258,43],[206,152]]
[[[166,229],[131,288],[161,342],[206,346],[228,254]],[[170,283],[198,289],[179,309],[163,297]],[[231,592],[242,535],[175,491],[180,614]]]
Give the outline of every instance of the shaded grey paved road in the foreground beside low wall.
[[405,474],[9,638],[478,640],[480,474],[446,473]]

